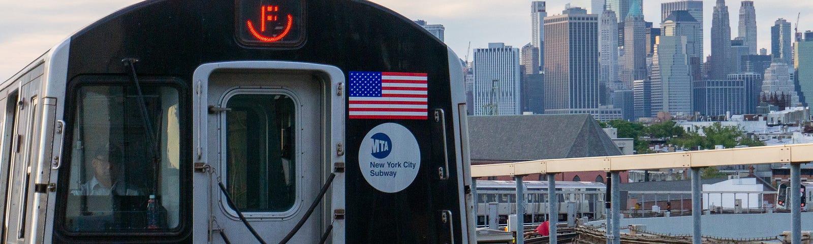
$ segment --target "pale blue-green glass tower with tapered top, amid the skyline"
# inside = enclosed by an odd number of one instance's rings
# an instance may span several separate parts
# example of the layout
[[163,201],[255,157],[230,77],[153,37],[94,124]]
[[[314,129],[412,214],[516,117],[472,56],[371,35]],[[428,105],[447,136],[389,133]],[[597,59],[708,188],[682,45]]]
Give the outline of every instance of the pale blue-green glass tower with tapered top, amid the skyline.
[[685,49],[687,38],[662,36],[658,39],[658,45],[655,46],[655,54],[652,57],[652,65],[658,70],[651,76],[652,112],[666,111],[672,114],[690,115],[692,113],[692,79],[689,73],[689,55],[686,54]]

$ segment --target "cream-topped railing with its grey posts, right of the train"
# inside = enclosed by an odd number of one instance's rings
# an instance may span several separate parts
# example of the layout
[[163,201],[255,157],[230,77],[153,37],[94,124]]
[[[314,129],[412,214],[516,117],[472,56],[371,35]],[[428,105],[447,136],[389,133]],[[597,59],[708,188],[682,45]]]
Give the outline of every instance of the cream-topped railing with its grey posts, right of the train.
[[[633,169],[659,169],[659,168],[691,168],[692,178],[692,209],[702,209],[700,168],[709,166],[726,166],[741,164],[762,164],[762,163],[790,163],[791,191],[800,190],[800,164],[813,161],[813,144],[785,145],[785,146],[758,146],[724,150],[699,150],[650,155],[621,155],[606,157],[590,157],[577,159],[543,159],[517,163],[496,163],[472,166],[472,177],[487,176],[514,176],[517,183],[517,201],[524,202],[522,193],[522,177],[530,174],[546,174],[548,176],[548,196],[552,212],[550,216],[558,218],[558,207],[555,190],[556,173],[561,172],[589,172],[604,171],[611,172],[611,220],[607,220],[610,228],[607,228],[606,237],[614,244],[620,243],[620,176],[619,172]],[[793,244],[801,244],[802,220],[801,220],[801,200],[797,194],[791,194],[791,235]],[[517,207],[518,212],[524,212],[523,204]],[[693,238],[692,242],[701,244],[702,234],[700,229],[701,211],[692,211],[693,216]],[[517,226],[523,226],[524,218],[516,218]],[[551,221],[550,238],[551,244],[556,244],[556,223]],[[523,244],[522,238],[517,242]]]

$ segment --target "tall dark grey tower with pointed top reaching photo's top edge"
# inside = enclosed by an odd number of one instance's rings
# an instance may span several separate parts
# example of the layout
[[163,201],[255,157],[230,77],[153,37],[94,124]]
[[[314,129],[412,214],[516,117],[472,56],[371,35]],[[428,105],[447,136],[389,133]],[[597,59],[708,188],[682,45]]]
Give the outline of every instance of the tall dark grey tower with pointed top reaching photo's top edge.
[[731,73],[731,25],[728,24],[728,6],[725,0],[717,0],[711,19],[711,80],[725,80]]

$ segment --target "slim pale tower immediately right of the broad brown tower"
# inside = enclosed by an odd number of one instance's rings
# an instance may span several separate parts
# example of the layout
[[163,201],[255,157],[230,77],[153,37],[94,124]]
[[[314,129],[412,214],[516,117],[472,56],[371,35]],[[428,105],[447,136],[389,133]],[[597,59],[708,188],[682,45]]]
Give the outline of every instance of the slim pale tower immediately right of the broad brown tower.
[[[618,21],[615,20],[613,11],[602,12],[598,32],[598,64],[600,66],[598,83],[606,88],[607,93],[611,93],[615,90],[615,86],[611,84],[618,81]],[[631,89],[631,87],[625,89]]]

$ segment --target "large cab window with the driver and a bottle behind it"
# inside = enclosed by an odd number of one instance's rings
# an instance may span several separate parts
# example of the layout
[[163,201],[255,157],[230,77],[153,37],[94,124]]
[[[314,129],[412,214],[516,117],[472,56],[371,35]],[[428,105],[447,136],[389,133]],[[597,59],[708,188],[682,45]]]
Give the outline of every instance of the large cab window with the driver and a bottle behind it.
[[139,94],[135,85],[83,85],[75,102],[63,228],[80,233],[178,228],[178,90],[145,84]]

